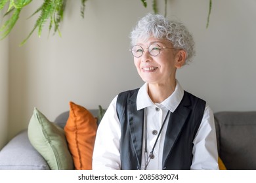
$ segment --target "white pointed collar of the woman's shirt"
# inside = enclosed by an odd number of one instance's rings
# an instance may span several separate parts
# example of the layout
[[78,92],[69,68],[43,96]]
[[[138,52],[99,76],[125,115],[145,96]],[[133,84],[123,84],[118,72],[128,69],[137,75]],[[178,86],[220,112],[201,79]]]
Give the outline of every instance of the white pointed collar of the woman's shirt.
[[[167,99],[161,102],[160,105],[163,105],[168,110],[171,110],[171,112],[174,112],[176,108],[179,106],[179,104],[181,103],[183,95],[184,95],[184,90],[182,89],[178,80],[176,80],[175,91]],[[153,103],[153,101],[150,99],[148,95],[148,83],[145,83],[139,89],[139,92],[137,95],[137,110],[154,106],[154,105],[156,104]]]

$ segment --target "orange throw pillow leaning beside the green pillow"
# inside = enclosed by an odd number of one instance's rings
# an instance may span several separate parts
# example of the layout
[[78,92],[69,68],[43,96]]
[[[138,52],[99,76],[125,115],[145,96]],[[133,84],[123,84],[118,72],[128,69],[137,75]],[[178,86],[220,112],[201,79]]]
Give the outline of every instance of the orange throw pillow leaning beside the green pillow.
[[86,108],[70,102],[70,116],[64,131],[77,170],[92,169],[96,129],[96,118],[93,114]]

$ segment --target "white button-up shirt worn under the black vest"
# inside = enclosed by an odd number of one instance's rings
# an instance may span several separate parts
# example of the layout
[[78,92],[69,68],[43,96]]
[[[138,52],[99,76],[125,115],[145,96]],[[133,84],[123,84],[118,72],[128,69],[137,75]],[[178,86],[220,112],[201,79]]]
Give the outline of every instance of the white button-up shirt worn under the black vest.
[[[137,95],[137,110],[146,108],[147,111],[147,149],[149,154],[158,136],[158,134],[154,135],[152,131],[156,130],[159,133],[167,111],[175,111],[181,103],[184,90],[177,81],[175,91],[165,99],[165,101],[158,104],[152,102],[148,96],[147,89],[147,83],[139,89]],[[116,101],[117,96],[110,103],[108,110],[106,110],[106,113],[98,126],[93,152],[93,169],[121,169],[119,152],[121,125],[116,114]],[[168,120],[169,116],[160,133],[156,147],[154,148],[155,158],[150,160],[147,169],[162,169],[163,144]],[[190,169],[219,169],[213,112],[208,105],[205,106],[203,119],[193,143],[193,159]],[[145,142],[143,139],[141,169],[144,169],[145,165],[144,146]]]

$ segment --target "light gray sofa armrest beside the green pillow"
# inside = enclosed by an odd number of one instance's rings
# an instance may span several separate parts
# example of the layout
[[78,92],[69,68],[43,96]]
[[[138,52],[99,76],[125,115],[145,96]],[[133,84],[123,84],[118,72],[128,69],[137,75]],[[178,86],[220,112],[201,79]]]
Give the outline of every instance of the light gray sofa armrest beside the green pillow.
[[33,148],[28,139],[28,131],[18,133],[0,151],[2,170],[49,170],[45,159]]

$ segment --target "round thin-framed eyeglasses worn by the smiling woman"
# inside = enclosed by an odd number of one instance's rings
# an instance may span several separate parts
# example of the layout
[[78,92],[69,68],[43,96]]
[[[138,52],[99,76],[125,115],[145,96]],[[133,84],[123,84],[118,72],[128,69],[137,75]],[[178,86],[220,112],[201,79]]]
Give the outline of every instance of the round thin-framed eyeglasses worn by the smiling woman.
[[[148,49],[148,52],[151,56],[158,56],[161,50],[164,50],[164,49],[180,50],[179,48],[167,48],[165,46],[161,47],[158,44],[150,44],[150,46],[148,46],[148,48],[146,49]],[[131,54],[133,54],[133,56],[135,56],[136,58],[139,58],[140,56],[142,56],[144,49],[140,45],[135,45],[133,46],[133,48],[131,48],[130,51],[131,51]]]

